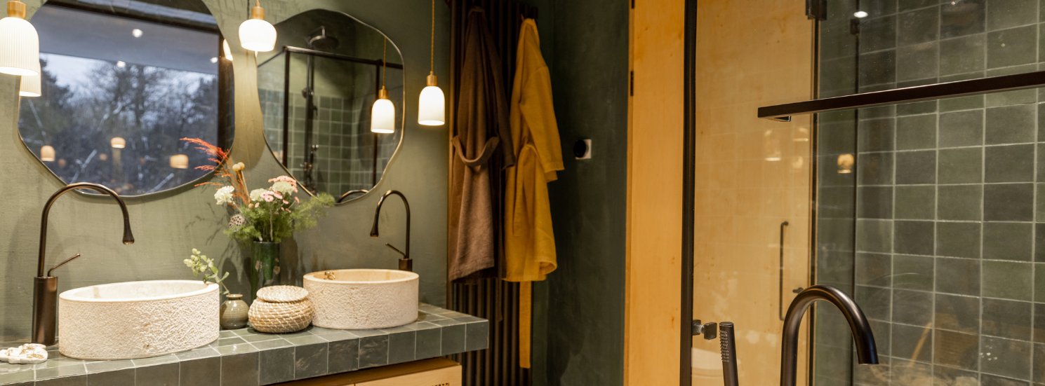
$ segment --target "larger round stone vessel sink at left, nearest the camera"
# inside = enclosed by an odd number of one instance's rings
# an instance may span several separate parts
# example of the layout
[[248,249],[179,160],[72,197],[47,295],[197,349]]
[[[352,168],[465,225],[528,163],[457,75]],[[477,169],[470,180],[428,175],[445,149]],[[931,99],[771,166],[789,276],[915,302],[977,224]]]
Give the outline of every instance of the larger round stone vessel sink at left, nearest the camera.
[[201,281],[114,283],[59,295],[59,351],[89,360],[156,357],[217,340],[218,290]]

